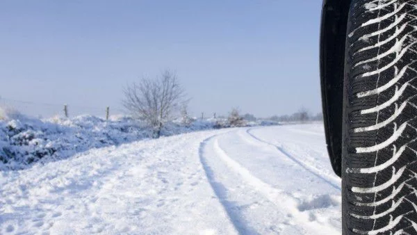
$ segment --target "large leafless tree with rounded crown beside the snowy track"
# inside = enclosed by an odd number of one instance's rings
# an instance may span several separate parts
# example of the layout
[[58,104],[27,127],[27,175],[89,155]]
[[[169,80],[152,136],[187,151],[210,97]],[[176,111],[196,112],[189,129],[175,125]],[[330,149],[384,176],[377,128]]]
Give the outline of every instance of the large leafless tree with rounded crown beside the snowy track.
[[157,79],[143,78],[124,89],[124,108],[152,127],[153,138],[161,136],[163,125],[172,120],[175,111],[185,102],[185,92],[177,76],[169,70]]

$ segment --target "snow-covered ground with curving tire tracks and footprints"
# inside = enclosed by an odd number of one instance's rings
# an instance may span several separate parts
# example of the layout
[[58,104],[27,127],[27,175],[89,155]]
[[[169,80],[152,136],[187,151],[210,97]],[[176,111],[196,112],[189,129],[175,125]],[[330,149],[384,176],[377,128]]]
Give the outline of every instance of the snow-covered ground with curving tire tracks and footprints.
[[0,172],[0,234],[341,234],[321,124],[184,133]]

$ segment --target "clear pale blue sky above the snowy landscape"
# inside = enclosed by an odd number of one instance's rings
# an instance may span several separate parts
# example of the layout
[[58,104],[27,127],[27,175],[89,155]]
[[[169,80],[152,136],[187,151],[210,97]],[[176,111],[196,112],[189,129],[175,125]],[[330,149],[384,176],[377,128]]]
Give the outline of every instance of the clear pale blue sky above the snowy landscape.
[[72,114],[114,113],[126,83],[169,68],[194,115],[318,113],[321,4],[0,1],[0,101],[31,115],[65,103]]

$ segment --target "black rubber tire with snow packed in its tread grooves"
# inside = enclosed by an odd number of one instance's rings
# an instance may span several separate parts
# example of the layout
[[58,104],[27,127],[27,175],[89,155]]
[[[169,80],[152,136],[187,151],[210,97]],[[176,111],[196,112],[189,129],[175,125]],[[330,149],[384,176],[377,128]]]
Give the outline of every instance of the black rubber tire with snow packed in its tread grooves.
[[417,1],[353,0],[343,91],[343,234],[417,234]]

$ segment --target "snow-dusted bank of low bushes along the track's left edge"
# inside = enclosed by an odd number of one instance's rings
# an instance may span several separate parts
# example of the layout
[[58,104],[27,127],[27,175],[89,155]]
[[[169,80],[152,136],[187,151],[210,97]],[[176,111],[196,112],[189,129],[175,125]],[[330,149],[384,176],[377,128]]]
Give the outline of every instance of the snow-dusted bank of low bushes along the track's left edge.
[[[149,138],[149,129],[130,117],[103,120],[91,115],[39,120],[2,111],[0,170],[20,170],[33,163],[65,159],[88,149],[120,145]],[[185,127],[168,123],[163,136],[213,129],[215,122],[199,120]]]

